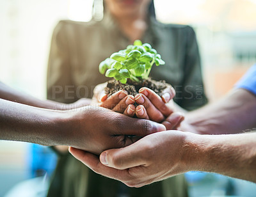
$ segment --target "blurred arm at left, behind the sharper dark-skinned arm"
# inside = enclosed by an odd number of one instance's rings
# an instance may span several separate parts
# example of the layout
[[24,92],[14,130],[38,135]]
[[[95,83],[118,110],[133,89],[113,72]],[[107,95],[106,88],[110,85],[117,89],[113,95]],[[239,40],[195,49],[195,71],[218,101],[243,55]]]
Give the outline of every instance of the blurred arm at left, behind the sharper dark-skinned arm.
[[40,99],[36,99],[35,97],[31,97],[31,95],[28,95],[21,91],[17,91],[1,82],[0,82],[0,99],[19,102],[20,104],[26,104],[34,107],[41,107],[45,109],[58,109],[58,110],[74,109],[77,107],[89,105],[91,102],[90,99],[81,99],[75,102],[74,104],[63,104],[60,102],[54,102],[52,100],[40,100]]

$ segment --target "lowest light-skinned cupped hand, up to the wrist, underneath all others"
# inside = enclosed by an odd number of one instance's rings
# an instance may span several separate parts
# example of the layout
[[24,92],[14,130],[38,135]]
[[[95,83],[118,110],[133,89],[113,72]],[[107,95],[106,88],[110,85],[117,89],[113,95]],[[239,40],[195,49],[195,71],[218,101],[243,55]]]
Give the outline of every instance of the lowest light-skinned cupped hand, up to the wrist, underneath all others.
[[129,187],[142,187],[189,171],[182,161],[186,134],[167,130],[150,134],[132,145],[106,150],[98,156],[70,148],[76,159],[96,173],[120,180]]

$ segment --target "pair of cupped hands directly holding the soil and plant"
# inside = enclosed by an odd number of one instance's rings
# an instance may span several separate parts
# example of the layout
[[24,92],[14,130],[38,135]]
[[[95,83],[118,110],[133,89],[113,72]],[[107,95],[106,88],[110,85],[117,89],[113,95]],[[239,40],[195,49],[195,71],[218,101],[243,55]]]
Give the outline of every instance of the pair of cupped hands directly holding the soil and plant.
[[[172,86],[167,86],[162,97],[157,95],[149,88],[141,88],[139,93],[133,97],[128,95],[126,91],[120,90],[108,97],[104,90],[106,83],[99,84],[95,87],[93,102],[97,106],[112,109],[118,113],[124,113],[127,116],[152,120],[154,122],[163,123],[166,129],[177,129],[184,120],[184,114],[174,111],[173,97],[175,90]],[[134,103],[139,104],[135,107]]]

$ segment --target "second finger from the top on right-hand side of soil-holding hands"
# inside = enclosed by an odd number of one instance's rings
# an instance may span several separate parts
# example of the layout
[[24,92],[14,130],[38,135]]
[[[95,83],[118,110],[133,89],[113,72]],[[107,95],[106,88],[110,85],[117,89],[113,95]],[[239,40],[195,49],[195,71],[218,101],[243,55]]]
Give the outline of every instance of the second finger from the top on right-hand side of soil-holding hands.
[[143,95],[142,93],[138,93],[138,95],[136,95],[134,98],[138,104],[141,104],[145,107],[147,111],[147,116],[150,120],[155,122],[162,122],[164,120],[164,116],[161,111],[159,111],[145,95]]

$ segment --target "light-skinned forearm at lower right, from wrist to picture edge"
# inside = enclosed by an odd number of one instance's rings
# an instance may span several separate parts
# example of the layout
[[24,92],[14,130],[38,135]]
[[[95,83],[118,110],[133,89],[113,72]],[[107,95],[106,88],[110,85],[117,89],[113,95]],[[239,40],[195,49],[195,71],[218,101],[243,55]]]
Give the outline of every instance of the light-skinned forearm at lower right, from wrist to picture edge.
[[256,132],[216,136],[187,133],[184,152],[188,170],[256,182]]

